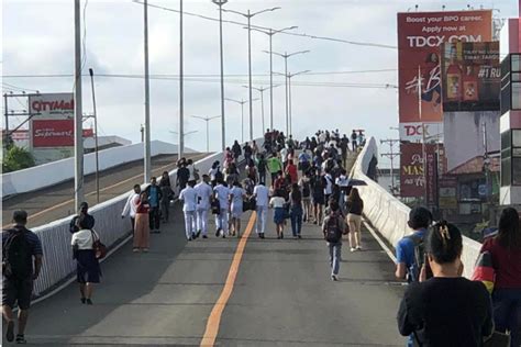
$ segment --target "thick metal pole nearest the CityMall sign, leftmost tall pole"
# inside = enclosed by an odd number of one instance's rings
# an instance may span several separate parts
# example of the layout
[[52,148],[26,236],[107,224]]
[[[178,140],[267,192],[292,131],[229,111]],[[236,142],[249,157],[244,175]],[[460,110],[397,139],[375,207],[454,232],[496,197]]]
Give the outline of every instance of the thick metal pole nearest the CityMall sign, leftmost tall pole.
[[81,110],[81,10],[80,0],[75,0],[75,204],[76,211],[85,199],[84,195],[84,113]]

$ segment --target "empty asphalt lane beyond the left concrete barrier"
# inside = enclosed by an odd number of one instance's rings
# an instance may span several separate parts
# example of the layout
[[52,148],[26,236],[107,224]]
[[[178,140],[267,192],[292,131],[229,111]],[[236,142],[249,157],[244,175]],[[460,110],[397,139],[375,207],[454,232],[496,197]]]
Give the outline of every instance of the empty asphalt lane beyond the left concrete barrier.
[[[195,154],[187,158],[201,159],[207,154]],[[160,176],[164,170],[173,170],[176,155],[163,155],[152,159],[153,175]],[[135,183],[143,182],[143,160],[128,163],[100,172],[100,202],[123,194]],[[85,177],[86,200],[89,205],[97,203],[96,175]],[[75,214],[74,180],[11,197],[2,201],[2,225],[10,225],[12,212],[25,210],[29,213],[29,227],[35,227]]]

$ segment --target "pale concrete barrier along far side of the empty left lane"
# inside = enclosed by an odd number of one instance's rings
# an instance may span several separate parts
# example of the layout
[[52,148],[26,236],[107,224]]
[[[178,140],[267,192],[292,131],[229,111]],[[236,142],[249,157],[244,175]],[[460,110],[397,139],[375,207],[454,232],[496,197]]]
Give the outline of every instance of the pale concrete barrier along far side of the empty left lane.
[[[176,154],[177,145],[160,141],[151,144],[152,156]],[[188,152],[189,153],[189,152]],[[99,169],[109,168],[143,159],[143,144],[109,148],[99,152]],[[84,172],[96,172],[96,154],[84,156]],[[20,194],[70,180],[74,178],[74,158],[62,159],[32,168],[2,175],[2,197]]]

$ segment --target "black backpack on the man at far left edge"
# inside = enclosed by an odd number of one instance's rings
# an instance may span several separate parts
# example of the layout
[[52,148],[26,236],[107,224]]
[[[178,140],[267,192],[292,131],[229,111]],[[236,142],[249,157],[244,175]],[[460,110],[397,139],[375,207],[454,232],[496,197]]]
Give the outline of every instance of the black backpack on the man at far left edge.
[[27,279],[33,275],[33,257],[25,230],[12,228],[7,233],[9,236],[2,247],[3,275],[7,278]]

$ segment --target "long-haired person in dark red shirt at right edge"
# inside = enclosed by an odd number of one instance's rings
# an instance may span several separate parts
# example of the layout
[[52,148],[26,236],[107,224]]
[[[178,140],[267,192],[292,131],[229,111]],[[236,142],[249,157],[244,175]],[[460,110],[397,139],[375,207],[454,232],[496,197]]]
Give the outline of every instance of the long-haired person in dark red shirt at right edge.
[[485,239],[481,253],[489,251],[496,271],[492,292],[496,331],[509,331],[512,347],[521,345],[521,230],[519,213],[507,208],[499,219],[499,231]]

